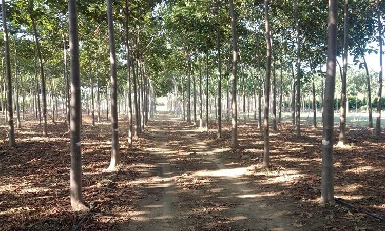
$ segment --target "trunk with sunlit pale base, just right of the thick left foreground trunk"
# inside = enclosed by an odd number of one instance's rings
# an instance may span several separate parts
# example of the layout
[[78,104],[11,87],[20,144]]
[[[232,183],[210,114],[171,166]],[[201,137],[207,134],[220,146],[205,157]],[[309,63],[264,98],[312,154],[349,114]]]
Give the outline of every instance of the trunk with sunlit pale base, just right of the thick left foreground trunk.
[[113,17],[112,3],[107,0],[107,20],[108,20],[108,38],[110,44],[110,63],[111,63],[111,130],[112,130],[112,148],[111,162],[109,169],[119,165],[119,127],[118,127],[118,79],[117,62],[115,53],[115,40],[113,35]]

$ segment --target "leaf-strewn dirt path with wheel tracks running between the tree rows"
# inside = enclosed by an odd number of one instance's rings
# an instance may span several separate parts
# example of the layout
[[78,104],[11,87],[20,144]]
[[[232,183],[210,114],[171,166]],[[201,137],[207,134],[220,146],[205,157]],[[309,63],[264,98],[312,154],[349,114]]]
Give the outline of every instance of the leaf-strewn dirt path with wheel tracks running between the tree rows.
[[309,230],[295,204],[268,195],[251,169],[221,160],[225,150],[198,134],[168,114],[151,121],[142,145],[150,162],[133,182],[139,200],[119,230]]

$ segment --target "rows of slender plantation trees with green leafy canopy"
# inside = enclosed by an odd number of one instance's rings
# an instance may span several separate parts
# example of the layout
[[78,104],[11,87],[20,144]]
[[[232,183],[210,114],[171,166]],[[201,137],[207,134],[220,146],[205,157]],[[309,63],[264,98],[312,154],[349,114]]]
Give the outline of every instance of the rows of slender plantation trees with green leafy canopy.
[[[1,88],[7,91],[2,97],[7,100],[9,144],[15,146],[13,99],[17,127],[22,127],[20,106],[25,111],[30,102],[35,117],[42,121],[43,136],[49,134],[47,116],[54,120],[57,105],[65,102],[71,132],[71,202],[73,208],[80,208],[82,100],[91,105],[93,125],[95,110],[100,120],[100,101],[107,101],[113,168],[119,164],[119,106],[127,112],[128,144],[132,145],[133,135],[141,133],[155,110],[155,97],[172,94],[169,101],[174,111],[187,122],[198,124],[199,120],[200,127],[205,117],[208,128],[208,95],[214,96],[218,138],[222,137],[222,112],[231,108],[232,147],[236,148],[238,112],[246,121],[246,98],[252,96],[258,127],[264,129],[263,166],[268,167],[270,113],[276,132],[282,105],[290,102],[300,137],[301,104],[311,98],[316,127],[318,99],[324,130],[322,202],[333,204],[335,72],[341,79],[337,93],[340,144],[347,141],[348,94],[367,94],[369,127],[373,126],[371,102],[377,94],[376,132],[380,135],[382,55],[378,78],[371,78],[365,55],[382,54],[383,4],[378,0],[329,0],[329,5],[321,0],[89,0],[76,5],[72,0],[12,0],[5,5],[3,0],[6,81]],[[357,72],[348,69],[348,55],[364,75],[355,76]],[[342,56],[341,64],[337,56]],[[87,94],[81,96],[81,89]],[[240,102],[243,108],[238,108]]]

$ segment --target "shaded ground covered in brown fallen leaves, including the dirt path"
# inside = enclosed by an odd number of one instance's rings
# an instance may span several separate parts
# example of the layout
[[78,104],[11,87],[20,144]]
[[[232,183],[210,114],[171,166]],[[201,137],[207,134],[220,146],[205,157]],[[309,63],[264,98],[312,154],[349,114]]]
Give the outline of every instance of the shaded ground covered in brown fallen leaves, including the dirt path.
[[[319,192],[303,185],[320,188],[320,128],[304,125],[298,139],[282,123],[271,133],[271,168],[262,170],[262,130],[253,120],[239,126],[240,148],[231,149],[228,124],[216,139],[216,121],[201,132],[167,113],[128,147],[122,119],[122,164],[106,171],[110,124],[83,122],[83,197],[97,203],[83,230],[385,230],[384,222],[354,209],[320,207]],[[50,123],[43,138],[40,125],[25,121],[13,150],[2,127],[0,229],[71,230],[85,213],[69,204],[65,124]],[[335,196],[384,217],[384,136],[348,127],[348,143],[335,148]]]

